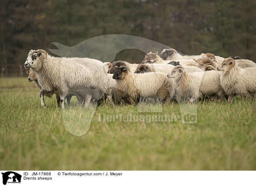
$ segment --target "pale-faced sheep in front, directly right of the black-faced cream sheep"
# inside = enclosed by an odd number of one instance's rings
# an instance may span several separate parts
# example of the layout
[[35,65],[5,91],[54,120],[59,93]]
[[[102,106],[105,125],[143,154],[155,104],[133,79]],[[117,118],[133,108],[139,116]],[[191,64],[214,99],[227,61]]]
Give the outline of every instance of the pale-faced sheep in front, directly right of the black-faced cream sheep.
[[174,78],[175,96],[178,102],[193,103],[198,98],[212,95],[217,95],[220,99],[224,97],[218,71],[187,73],[184,67],[177,66],[167,77]]

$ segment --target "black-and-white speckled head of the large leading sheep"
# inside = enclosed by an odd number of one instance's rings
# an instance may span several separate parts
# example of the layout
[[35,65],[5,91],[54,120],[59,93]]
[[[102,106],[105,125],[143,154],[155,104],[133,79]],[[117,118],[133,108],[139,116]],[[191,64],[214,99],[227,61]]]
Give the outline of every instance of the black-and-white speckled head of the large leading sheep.
[[47,57],[47,53],[44,50],[30,50],[26,62],[24,63],[25,68],[38,68],[41,64],[38,62],[39,58],[44,55]]

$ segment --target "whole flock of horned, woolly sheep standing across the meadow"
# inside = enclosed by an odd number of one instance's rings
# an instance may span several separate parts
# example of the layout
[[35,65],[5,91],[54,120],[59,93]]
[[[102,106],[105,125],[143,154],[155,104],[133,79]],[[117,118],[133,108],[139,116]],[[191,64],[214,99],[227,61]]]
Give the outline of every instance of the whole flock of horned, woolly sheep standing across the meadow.
[[91,58],[52,57],[42,49],[30,50],[25,68],[29,81],[44,96],[56,94],[64,108],[76,96],[80,105],[105,102],[137,104],[140,98],[161,102],[195,103],[198,99],[228,99],[240,95],[254,98],[256,64],[247,59],[222,58],[211,53],[180,55],[175,49],[149,52],[141,64],[125,61],[103,63]]

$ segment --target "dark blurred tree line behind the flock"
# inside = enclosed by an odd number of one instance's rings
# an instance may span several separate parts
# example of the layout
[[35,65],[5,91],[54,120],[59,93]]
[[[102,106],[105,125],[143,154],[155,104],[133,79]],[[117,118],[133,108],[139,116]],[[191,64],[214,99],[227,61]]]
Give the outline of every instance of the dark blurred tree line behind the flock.
[[[55,48],[51,42],[73,46],[106,34],[256,61],[255,0],[1,0],[0,9],[0,64],[23,64],[30,49]],[[128,50],[116,58],[143,55]]]

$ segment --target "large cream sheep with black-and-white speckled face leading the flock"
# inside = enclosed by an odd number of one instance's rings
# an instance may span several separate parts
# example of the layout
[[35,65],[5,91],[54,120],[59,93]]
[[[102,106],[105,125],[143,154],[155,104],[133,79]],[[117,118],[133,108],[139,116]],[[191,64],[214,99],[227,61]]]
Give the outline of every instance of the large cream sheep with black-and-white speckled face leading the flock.
[[77,93],[85,98],[84,105],[90,100],[99,100],[108,88],[108,76],[103,72],[103,63],[90,58],[57,58],[44,50],[31,50],[25,68],[32,68],[38,76],[41,86],[41,104],[44,92],[54,92],[61,99],[69,93]]

